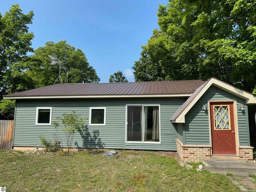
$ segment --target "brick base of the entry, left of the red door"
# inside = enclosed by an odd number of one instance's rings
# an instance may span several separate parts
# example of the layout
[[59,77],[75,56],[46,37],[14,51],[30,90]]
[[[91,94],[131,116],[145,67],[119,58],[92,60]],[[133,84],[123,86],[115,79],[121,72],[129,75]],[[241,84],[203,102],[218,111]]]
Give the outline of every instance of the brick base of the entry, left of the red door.
[[180,140],[176,139],[177,142],[177,153],[182,161],[202,161],[211,159],[211,148],[210,146],[186,146],[183,145]]

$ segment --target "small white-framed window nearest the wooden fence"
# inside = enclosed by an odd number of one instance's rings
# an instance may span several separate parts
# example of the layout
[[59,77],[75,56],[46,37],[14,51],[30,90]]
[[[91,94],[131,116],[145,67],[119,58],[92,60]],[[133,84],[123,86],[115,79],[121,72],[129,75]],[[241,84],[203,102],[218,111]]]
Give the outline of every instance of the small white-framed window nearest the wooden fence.
[[52,124],[52,107],[36,107],[36,125]]

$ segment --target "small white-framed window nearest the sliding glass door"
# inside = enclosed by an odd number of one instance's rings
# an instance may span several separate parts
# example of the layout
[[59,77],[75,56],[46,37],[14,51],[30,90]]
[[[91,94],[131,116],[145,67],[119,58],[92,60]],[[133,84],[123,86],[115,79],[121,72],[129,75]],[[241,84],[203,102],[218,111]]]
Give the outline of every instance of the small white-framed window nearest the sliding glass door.
[[90,107],[89,126],[106,125],[106,107]]

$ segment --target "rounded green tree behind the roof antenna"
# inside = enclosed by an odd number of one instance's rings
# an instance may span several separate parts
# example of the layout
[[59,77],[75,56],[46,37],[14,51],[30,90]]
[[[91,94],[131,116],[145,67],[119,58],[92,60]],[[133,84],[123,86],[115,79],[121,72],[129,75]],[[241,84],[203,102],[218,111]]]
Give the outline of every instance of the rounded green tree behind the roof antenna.
[[[46,42],[44,47],[35,50],[34,57],[40,59],[30,70],[26,70],[25,74],[33,79],[36,87],[42,87],[54,84],[59,76],[58,65],[51,65],[50,54],[56,54],[56,57],[63,61],[62,65],[70,72],[68,73],[68,83],[82,82],[99,82],[95,69],[89,65],[88,60],[82,50],[75,49],[66,43],[66,40],[54,43]],[[62,80],[64,82],[66,73],[61,70]],[[59,81],[57,81],[59,83]]]

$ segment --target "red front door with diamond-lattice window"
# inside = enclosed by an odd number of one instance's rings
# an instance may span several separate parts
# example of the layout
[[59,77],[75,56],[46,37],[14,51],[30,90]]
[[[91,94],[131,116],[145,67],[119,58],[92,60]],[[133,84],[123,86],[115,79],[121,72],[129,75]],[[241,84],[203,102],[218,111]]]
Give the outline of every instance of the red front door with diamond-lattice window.
[[212,154],[236,155],[233,102],[211,102]]

